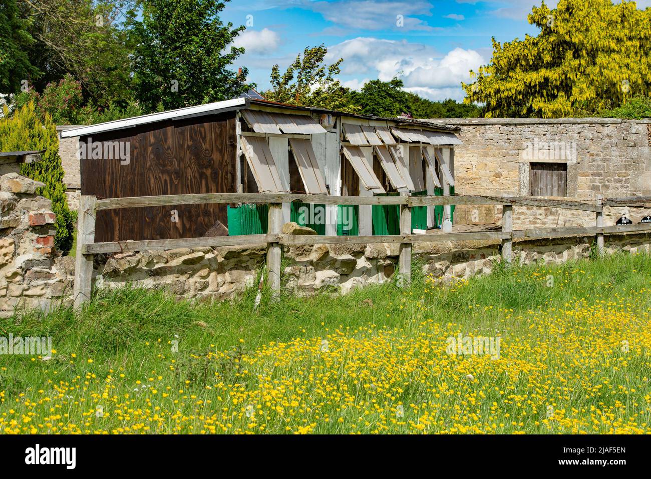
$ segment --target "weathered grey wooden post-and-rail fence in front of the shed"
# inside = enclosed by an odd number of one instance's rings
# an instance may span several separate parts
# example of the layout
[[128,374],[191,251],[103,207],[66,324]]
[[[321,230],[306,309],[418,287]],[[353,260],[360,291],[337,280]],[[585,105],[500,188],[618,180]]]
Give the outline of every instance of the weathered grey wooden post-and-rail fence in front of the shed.
[[[283,227],[282,204],[301,200],[304,203],[329,205],[400,205],[400,233],[389,236],[299,236],[281,234]],[[174,206],[178,204],[269,204],[268,234],[243,236],[215,236],[210,238],[147,239],[143,241],[94,242],[95,217],[98,210],[139,208],[143,206]],[[411,208],[415,206],[447,205],[502,206],[501,231],[481,231],[441,234],[411,234]],[[513,230],[513,206],[562,208],[595,213],[595,226],[535,228]],[[603,226],[604,206],[651,206],[651,197],[608,198],[587,201],[579,198],[552,200],[535,197],[491,196],[442,196],[442,197],[334,197],[321,195],[257,194],[257,193],[206,193],[199,195],[163,195],[155,197],[108,198],[98,200],[93,196],[81,196],[77,225],[77,256],[75,265],[74,305],[79,307],[90,298],[93,255],[99,253],[124,253],[175,248],[219,247],[267,243],[268,282],[271,290],[281,287],[282,245],[313,245],[335,243],[400,243],[399,274],[408,284],[411,278],[411,245],[418,242],[472,241],[499,239],[502,243],[503,260],[510,262],[514,238],[560,238],[572,235],[594,235],[600,253],[603,252],[603,235],[651,231],[651,224]]]

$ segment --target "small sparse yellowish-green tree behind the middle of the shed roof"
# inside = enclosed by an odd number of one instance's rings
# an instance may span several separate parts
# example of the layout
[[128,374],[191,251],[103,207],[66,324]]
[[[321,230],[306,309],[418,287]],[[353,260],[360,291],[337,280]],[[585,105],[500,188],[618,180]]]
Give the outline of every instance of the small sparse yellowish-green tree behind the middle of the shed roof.
[[272,102],[288,105],[320,107],[324,109],[356,113],[357,108],[349,102],[350,90],[343,87],[335,75],[343,59],[333,64],[325,63],[327,48],[323,44],[305,47],[303,57],[296,60],[281,74],[276,64],[271,68],[271,90],[262,96]]

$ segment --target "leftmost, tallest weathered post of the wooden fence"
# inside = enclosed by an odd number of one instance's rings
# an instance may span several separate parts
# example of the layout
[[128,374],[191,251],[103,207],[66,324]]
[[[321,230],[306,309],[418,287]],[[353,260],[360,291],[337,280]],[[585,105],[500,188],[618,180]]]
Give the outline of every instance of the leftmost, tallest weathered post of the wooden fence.
[[92,254],[82,254],[84,245],[95,241],[95,217],[97,198],[81,195],[77,215],[77,251],[75,257],[74,308],[90,299],[92,288]]

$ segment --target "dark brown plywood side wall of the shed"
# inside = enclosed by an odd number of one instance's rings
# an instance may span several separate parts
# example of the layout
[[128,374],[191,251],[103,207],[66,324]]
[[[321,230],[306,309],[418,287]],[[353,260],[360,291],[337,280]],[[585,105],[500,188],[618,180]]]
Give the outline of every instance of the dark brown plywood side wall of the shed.
[[[81,159],[81,194],[98,198],[236,193],[235,114],[167,120],[90,135],[128,141],[130,163]],[[79,141],[87,141],[81,137]],[[97,214],[95,241],[168,239],[226,234],[225,204],[126,208]],[[173,210],[178,221],[172,221]],[[216,226],[216,227],[215,227]]]

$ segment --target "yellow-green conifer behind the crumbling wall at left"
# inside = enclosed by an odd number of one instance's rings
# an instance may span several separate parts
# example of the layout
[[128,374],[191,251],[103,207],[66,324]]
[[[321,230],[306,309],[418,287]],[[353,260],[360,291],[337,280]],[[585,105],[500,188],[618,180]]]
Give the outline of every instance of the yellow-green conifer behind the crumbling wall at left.
[[8,115],[7,107],[4,113],[0,118],[0,151],[45,150],[41,161],[21,165],[20,174],[45,184],[36,193],[51,200],[52,211],[57,215],[54,245],[63,254],[68,254],[76,215],[68,209],[63,187],[57,127],[49,115],[41,120],[34,103],[24,105],[12,116]]

